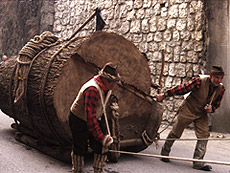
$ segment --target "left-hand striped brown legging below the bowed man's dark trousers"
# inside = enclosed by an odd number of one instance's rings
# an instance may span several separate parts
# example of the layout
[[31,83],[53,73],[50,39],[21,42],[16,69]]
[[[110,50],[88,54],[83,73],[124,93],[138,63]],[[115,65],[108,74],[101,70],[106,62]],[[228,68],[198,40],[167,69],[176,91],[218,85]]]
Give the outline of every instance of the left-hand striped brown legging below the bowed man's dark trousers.
[[71,152],[72,173],[82,173],[84,168],[84,156],[79,156]]

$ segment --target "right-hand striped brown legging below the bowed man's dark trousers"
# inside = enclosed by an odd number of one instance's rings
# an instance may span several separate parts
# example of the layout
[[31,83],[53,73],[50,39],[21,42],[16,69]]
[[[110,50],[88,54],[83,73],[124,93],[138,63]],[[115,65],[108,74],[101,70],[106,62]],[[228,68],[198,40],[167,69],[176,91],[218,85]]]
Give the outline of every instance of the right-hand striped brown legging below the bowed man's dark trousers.
[[103,173],[106,165],[107,155],[94,153],[94,173]]

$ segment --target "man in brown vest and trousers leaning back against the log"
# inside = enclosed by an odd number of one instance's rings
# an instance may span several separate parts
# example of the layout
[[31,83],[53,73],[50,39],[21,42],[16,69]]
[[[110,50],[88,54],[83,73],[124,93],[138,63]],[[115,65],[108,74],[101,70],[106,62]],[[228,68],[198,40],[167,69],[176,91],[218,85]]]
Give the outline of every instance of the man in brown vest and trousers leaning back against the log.
[[[221,84],[224,77],[224,71],[220,66],[213,66],[209,77],[196,77],[191,81],[168,89],[164,94],[158,94],[157,100],[162,101],[166,97],[174,95],[184,95],[191,92],[189,96],[182,102],[178,113],[177,121],[170,131],[164,146],[161,150],[161,155],[169,156],[171,147],[176,138],[180,138],[184,129],[194,123],[195,134],[198,138],[194,159],[203,159],[208,140],[199,140],[210,136],[208,127],[208,113],[214,112],[221,103],[224,95],[225,87]],[[168,158],[161,159],[164,162],[169,162]],[[212,167],[201,162],[193,162],[193,168],[211,171]]]

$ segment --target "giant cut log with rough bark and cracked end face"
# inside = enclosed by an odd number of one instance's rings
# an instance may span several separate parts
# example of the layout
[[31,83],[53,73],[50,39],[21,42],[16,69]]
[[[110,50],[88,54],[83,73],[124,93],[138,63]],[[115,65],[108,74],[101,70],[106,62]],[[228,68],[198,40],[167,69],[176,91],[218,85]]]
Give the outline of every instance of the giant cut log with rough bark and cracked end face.
[[[120,106],[121,149],[139,152],[148,146],[146,139],[151,143],[155,138],[162,106],[138,96],[139,91],[150,93],[150,70],[140,51],[124,37],[100,31],[71,42],[60,41],[33,57],[24,72],[26,77],[18,75],[17,58],[11,57],[0,67],[0,108],[18,127],[27,129],[29,136],[43,144],[71,148],[70,106],[82,84],[112,61],[118,65],[122,81],[134,86],[137,93],[121,83],[113,92]],[[14,102],[18,80],[24,81],[25,92]]]

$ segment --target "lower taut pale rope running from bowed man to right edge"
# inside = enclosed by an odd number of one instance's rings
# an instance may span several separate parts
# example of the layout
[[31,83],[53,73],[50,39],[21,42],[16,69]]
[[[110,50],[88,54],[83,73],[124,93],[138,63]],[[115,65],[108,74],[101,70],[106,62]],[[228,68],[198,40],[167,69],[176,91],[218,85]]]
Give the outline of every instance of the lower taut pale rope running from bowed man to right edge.
[[121,153],[121,154],[129,154],[129,155],[135,155],[135,156],[154,157],[154,158],[167,158],[167,159],[187,161],[187,162],[200,162],[200,163],[204,163],[205,162],[205,163],[211,163],[211,164],[228,165],[228,166],[230,166],[230,162],[222,162],[222,161],[214,161],[214,160],[199,160],[199,159],[162,156],[162,155],[155,155],[155,154],[133,153],[133,152],[115,151],[115,150],[109,150],[109,152]]

